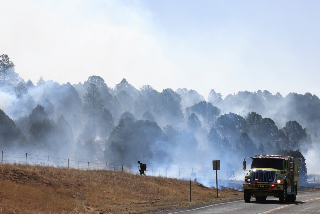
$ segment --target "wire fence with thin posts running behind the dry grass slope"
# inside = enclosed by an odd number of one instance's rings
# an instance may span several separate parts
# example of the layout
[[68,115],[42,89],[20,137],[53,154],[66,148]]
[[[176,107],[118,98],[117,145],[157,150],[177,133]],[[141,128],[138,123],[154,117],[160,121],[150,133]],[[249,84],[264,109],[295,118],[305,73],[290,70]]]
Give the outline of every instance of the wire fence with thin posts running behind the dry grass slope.
[[[1,152],[1,164],[25,164],[52,166],[57,168],[68,168],[77,170],[115,170],[139,174],[139,166],[116,165],[102,162],[84,162],[71,159],[51,157],[49,155],[32,155],[27,153]],[[178,167],[149,167],[145,171],[149,176],[161,176],[167,178],[192,179],[197,180],[204,186],[216,186],[216,171],[212,168],[178,168]],[[235,172],[233,170],[218,170],[218,186],[241,188],[245,172]],[[320,175],[309,175],[308,183],[319,183]]]

